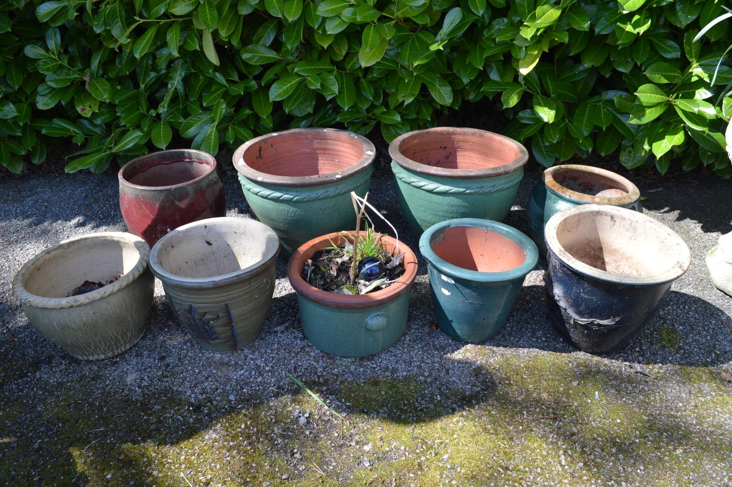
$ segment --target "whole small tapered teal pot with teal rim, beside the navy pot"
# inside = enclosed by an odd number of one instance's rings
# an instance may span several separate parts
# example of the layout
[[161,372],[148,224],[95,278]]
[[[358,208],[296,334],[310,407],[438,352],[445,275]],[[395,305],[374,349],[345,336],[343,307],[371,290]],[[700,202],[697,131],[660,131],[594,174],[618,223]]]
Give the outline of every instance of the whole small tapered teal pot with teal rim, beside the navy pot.
[[419,252],[429,267],[437,324],[450,338],[471,343],[501,331],[539,259],[537,246],[520,231],[477,218],[427,228]]

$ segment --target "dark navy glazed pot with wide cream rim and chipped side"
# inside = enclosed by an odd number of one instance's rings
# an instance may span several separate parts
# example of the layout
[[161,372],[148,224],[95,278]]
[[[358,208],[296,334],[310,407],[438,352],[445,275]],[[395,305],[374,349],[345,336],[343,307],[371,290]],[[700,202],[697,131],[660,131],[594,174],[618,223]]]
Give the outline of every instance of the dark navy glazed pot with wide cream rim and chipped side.
[[670,228],[620,207],[564,209],[550,218],[545,236],[552,324],[584,352],[627,346],[691,261],[689,248]]

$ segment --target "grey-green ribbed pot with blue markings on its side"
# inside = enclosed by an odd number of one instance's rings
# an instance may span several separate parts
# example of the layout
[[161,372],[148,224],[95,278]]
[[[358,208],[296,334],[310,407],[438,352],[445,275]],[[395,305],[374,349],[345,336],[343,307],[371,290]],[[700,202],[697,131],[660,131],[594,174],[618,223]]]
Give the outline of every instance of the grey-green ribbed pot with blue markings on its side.
[[195,341],[212,352],[234,352],[262,329],[279,250],[277,234],[264,223],[209,218],[158,240],[150,268]]

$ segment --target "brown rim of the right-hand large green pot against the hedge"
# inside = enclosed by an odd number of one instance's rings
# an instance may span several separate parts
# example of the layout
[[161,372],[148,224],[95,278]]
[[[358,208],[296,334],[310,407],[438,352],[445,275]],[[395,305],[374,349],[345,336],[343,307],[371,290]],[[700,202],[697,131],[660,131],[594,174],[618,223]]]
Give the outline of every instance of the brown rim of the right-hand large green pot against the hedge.
[[[501,166],[485,169],[451,169],[451,168],[439,168],[436,166],[430,166],[429,164],[419,163],[416,160],[412,160],[401,152],[402,144],[410,138],[419,137],[422,135],[433,135],[435,133],[447,133],[452,135],[460,133],[462,135],[471,135],[475,137],[492,137],[496,138],[499,144],[509,146],[512,150],[518,152],[518,156],[514,160]],[[445,177],[493,177],[502,176],[504,174],[512,173],[519,168],[522,168],[529,160],[529,152],[526,151],[526,147],[519,144],[517,141],[499,133],[488,132],[488,130],[480,130],[469,127],[434,127],[423,130],[412,130],[411,132],[399,135],[395,138],[391,144],[389,144],[389,156],[403,168],[409,169],[422,174],[430,174],[432,176],[445,176]]]

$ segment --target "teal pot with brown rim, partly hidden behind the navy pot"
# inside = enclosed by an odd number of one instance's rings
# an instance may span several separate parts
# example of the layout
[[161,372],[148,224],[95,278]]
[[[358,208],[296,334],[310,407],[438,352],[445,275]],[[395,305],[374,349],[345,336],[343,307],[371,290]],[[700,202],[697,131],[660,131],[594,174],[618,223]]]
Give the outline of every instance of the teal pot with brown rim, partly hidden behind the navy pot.
[[547,255],[544,227],[549,219],[580,204],[605,204],[643,212],[638,187],[620,174],[575,164],[548,168],[529,196],[529,233],[542,256]]

